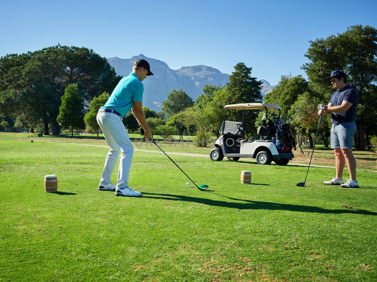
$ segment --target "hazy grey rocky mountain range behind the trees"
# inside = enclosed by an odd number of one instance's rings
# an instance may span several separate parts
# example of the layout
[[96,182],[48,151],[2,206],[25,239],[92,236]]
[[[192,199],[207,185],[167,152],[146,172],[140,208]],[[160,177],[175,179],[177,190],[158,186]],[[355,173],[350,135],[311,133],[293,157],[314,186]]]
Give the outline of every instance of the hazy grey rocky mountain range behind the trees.
[[[132,66],[138,59],[145,59],[150,64],[153,76],[147,76],[143,80],[144,95],[143,106],[152,110],[161,110],[162,101],[173,88],[182,88],[193,100],[201,93],[205,84],[224,86],[229,82],[229,75],[218,69],[204,65],[181,67],[178,70],[170,69],[166,62],[148,58],[143,54],[129,59],[118,57],[107,58],[110,66],[114,67],[117,75],[128,76],[132,72]],[[262,79],[262,96],[271,92],[274,88],[268,81]]]

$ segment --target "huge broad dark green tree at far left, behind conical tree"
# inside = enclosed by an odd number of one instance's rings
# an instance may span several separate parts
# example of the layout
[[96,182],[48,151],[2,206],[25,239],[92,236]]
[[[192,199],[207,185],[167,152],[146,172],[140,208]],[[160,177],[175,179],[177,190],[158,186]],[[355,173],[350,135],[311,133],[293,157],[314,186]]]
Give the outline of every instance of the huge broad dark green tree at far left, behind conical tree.
[[[120,80],[106,58],[85,47],[47,47],[0,58],[0,109],[26,112],[31,121],[43,122],[45,134],[59,134],[61,96],[67,85],[78,83],[79,93],[90,101],[115,87]],[[110,91],[112,91],[111,89]]]

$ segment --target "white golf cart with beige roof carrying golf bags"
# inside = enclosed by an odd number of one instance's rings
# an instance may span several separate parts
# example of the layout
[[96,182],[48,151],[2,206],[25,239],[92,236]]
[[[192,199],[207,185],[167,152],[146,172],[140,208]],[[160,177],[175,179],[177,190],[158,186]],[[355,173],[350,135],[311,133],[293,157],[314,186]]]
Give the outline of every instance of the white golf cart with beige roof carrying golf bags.
[[[227,109],[240,110],[242,113],[241,122],[226,120]],[[279,110],[279,115],[271,113],[271,119],[267,122],[267,111]],[[245,111],[265,110],[262,118],[262,126],[258,128],[259,139],[253,140],[251,133],[246,139],[242,137],[245,133],[243,122]],[[277,165],[287,165],[294,158],[292,148],[294,138],[291,134],[289,117],[281,117],[281,108],[277,105],[265,103],[246,103],[225,106],[224,122],[220,128],[221,136],[216,140],[215,148],[210,152],[210,159],[221,161],[227,157],[230,161],[238,161],[242,158],[256,158],[260,165],[269,165],[274,161]]]

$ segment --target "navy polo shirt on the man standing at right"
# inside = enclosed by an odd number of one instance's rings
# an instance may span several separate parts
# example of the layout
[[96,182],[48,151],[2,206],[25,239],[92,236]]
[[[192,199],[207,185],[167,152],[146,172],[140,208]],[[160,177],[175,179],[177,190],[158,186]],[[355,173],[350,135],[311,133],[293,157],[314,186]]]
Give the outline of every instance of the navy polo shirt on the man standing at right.
[[349,86],[349,84],[340,90],[336,90],[333,95],[331,95],[329,103],[333,106],[340,106],[343,101],[352,103],[352,106],[344,113],[331,113],[331,122],[334,124],[356,120],[356,107],[357,101],[359,101],[359,94],[357,94],[357,91]]

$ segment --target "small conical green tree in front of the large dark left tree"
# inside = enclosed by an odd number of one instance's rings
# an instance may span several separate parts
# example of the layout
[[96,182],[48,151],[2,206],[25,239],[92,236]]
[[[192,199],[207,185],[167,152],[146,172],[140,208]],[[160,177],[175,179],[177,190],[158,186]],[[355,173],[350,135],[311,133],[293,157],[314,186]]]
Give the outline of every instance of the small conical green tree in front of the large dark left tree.
[[69,84],[61,97],[61,106],[57,121],[62,128],[85,129],[84,98],[78,93],[78,84]]

